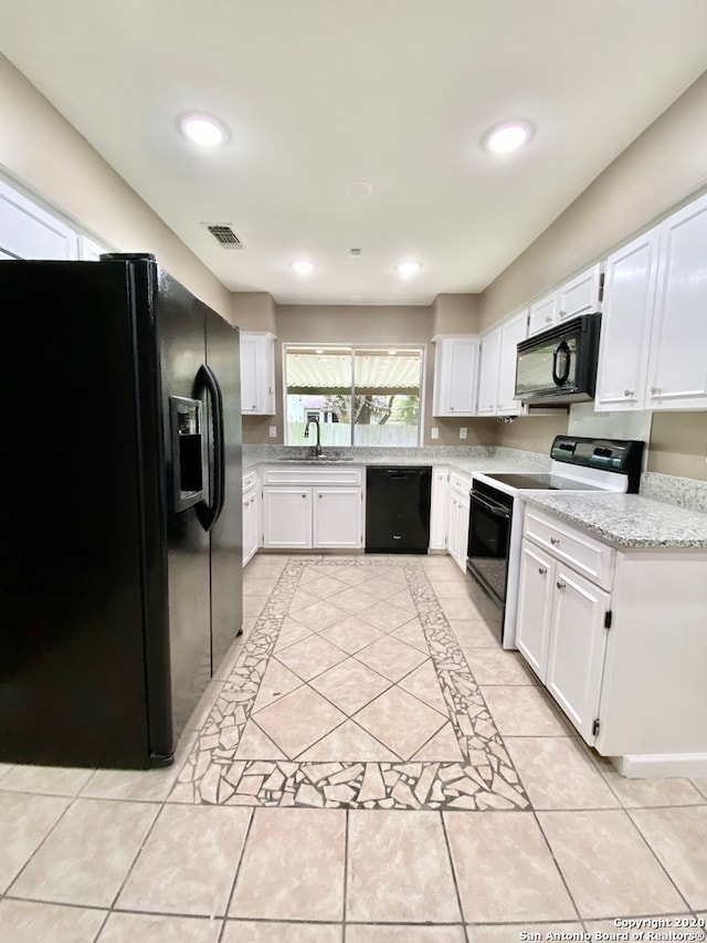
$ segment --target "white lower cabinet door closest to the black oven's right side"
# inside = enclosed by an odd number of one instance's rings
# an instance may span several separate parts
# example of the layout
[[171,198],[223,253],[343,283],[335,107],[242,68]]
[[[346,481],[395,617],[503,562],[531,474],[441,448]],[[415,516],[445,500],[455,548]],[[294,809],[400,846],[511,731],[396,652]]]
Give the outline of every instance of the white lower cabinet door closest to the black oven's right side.
[[540,681],[546,680],[555,560],[529,541],[523,542],[518,584],[516,645]]

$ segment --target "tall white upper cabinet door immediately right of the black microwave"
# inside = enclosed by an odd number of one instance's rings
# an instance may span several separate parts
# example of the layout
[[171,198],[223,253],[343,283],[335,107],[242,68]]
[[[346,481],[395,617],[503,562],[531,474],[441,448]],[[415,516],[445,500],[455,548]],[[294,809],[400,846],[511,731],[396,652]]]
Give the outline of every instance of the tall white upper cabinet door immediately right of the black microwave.
[[658,271],[655,227],[606,261],[594,409],[644,409],[651,316]]

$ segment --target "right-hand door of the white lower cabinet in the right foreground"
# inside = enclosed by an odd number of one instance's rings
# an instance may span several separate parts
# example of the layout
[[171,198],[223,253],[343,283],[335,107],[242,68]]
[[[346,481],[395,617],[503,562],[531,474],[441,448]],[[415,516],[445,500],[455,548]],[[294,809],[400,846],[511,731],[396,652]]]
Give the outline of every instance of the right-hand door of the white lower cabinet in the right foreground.
[[561,563],[553,579],[546,684],[587,743],[593,743],[610,597]]

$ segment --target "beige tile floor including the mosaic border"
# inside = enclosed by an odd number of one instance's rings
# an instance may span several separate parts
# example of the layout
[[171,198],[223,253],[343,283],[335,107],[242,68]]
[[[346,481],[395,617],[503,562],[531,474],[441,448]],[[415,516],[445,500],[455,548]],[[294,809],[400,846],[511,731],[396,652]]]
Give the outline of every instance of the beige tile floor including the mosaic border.
[[2,943],[705,939],[707,779],[618,776],[449,557],[244,583],[170,769],[0,765]]

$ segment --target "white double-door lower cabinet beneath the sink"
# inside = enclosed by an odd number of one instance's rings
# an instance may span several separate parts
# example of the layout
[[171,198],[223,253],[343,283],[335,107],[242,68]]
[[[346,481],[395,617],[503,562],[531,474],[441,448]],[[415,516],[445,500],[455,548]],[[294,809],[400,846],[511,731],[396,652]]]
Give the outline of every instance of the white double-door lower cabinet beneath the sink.
[[263,547],[359,549],[362,546],[361,469],[289,465],[264,470]]

